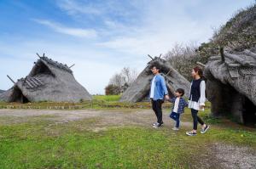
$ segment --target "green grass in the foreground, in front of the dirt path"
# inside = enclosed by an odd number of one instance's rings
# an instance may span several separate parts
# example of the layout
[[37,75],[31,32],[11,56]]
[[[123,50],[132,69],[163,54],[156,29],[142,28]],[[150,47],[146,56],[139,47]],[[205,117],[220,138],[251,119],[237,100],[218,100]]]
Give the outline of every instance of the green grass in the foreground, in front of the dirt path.
[[[107,130],[93,132],[89,127],[98,117],[55,123],[50,115],[41,115],[0,123],[0,168],[201,168],[198,161],[205,155],[212,158],[209,148],[216,143],[256,150],[254,128],[214,119],[209,113],[207,109],[201,116],[211,124],[210,131],[196,137],[186,136],[191,128],[185,126],[174,132],[169,127],[107,125]],[[191,121],[189,109],[182,121]]]

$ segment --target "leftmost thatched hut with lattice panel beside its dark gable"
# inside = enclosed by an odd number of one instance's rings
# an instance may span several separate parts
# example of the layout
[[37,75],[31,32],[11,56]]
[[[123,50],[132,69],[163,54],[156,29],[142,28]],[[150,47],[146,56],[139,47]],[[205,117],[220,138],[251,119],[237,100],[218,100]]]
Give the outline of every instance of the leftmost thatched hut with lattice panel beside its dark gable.
[[[39,56],[40,57],[40,56]],[[45,56],[40,57],[26,78],[21,78],[8,91],[0,93],[6,102],[79,102],[90,100],[90,93],[77,82],[73,71]]]

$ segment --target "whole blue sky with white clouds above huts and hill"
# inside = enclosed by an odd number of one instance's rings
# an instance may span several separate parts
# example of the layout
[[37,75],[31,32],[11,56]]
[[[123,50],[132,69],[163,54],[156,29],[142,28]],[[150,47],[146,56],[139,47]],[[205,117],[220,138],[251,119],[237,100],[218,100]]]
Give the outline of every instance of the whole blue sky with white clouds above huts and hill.
[[104,93],[124,66],[143,70],[147,54],[207,42],[254,0],[0,0],[0,89],[12,87],[45,53],[92,93]]

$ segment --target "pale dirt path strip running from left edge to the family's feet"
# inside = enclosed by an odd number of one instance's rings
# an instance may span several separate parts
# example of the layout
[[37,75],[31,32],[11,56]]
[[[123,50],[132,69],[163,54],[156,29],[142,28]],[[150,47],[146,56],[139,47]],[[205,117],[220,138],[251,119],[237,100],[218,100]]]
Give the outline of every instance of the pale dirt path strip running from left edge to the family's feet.
[[[152,110],[0,110],[3,124],[26,122],[38,116],[57,123],[96,118],[99,126],[151,126],[156,120]],[[163,121],[165,126],[173,126],[168,112],[164,113]],[[191,126],[191,123],[183,122],[183,126]]]

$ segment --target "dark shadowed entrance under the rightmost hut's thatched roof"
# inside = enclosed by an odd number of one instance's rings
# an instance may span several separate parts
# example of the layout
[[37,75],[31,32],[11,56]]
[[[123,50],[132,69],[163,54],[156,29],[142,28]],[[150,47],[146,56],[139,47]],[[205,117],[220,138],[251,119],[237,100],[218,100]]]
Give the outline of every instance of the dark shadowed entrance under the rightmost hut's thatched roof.
[[212,103],[213,115],[230,116],[247,126],[256,124],[256,105],[230,84],[224,84],[216,79],[208,80],[207,95]]

